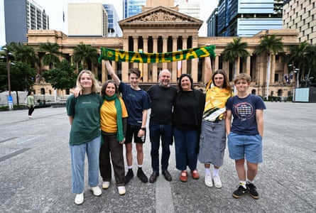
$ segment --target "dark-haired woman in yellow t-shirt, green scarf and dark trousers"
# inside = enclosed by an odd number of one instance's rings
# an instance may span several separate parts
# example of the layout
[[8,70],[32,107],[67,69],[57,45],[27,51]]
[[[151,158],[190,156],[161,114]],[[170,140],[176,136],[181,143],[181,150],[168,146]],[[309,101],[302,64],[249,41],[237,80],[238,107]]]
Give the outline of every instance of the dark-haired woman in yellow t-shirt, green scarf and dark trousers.
[[99,155],[99,168],[103,179],[102,188],[109,188],[112,163],[119,195],[125,195],[123,144],[128,114],[123,99],[119,97],[118,87],[113,80],[104,83],[101,94],[104,100],[100,108],[103,143]]

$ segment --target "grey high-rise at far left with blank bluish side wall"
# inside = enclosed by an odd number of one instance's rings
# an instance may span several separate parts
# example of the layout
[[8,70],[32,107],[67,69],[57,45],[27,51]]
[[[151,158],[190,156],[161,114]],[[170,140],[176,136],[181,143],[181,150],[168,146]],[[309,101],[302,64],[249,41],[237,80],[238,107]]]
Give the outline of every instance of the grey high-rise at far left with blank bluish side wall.
[[49,29],[45,10],[33,0],[4,0],[6,43],[27,41],[28,30]]

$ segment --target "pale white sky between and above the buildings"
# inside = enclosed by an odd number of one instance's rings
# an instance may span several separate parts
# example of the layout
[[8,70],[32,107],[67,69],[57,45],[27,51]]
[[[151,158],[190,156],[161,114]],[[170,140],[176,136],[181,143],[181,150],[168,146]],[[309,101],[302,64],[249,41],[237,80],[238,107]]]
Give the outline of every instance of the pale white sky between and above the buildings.
[[[0,0],[0,4],[3,4],[4,0]],[[48,14],[50,19],[50,29],[62,31],[63,33],[68,32],[67,24],[67,4],[68,3],[102,3],[102,4],[113,4],[116,12],[118,13],[120,19],[123,18],[123,3],[118,0],[33,0],[43,9],[45,13]],[[200,28],[199,35],[207,36],[207,25],[205,21],[209,18],[209,15],[217,7],[218,0],[188,0],[188,1],[200,1],[201,4],[201,20],[204,21],[202,27]],[[1,9],[1,5],[0,5]],[[63,21],[63,13],[65,13],[65,22]],[[2,14],[0,14],[0,19],[2,19]],[[2,19],[3,20],[3,19]],[[4,24],[0,21],[0,45],[5,44],[4,36]],[[2,33],[2,34],[1,34]]]

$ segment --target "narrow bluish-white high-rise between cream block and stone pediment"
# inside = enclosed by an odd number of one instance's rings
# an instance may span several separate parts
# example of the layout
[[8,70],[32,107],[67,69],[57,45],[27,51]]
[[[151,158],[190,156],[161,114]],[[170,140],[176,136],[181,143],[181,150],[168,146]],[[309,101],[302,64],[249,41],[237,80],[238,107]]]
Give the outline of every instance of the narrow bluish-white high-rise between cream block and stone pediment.
[[113,4],[104,4],[104,9],[107,11],[107,36],[121,37],[123,35],[119,27],[119,15],[117,14]]

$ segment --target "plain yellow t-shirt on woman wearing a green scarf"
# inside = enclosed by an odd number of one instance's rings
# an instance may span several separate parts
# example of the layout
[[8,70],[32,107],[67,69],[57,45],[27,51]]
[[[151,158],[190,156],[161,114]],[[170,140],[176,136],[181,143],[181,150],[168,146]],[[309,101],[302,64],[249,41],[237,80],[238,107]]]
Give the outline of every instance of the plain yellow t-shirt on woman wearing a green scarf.
[[[129,115],[127,114],[124,101],[123,99],[121,99],[121,97],[119,97],[119,101],[121,102],[122,118],[126,118]],[[102,131],[105,131],[107,133],[117,132],[115,100],[105,100],[103,102],[100,109],[100,119]]]

